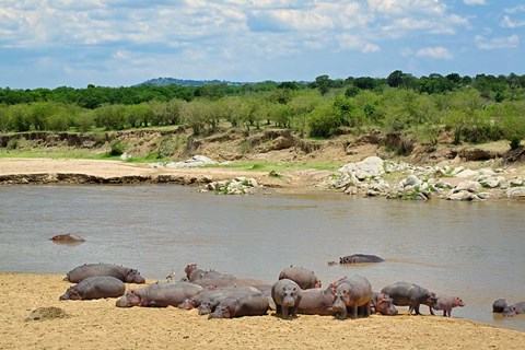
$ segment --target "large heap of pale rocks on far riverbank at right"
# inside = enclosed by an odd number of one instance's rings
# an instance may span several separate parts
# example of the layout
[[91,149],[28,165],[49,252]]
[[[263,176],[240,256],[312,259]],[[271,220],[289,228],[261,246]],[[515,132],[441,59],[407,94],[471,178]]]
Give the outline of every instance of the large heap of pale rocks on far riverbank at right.
[[[438,197],[479,201],[489,198],[522,198],[518,188],[524,186],[524,179],[508,179],[504,175],[506,174],[501,168],[416,166],[371,156],[362,162],[345,164],[325,185],[342,189],[348,195],[388,199],[427,200]],[[446,178],[457,185],[453,186]],[[509,188],[516,189],[508,190]]]

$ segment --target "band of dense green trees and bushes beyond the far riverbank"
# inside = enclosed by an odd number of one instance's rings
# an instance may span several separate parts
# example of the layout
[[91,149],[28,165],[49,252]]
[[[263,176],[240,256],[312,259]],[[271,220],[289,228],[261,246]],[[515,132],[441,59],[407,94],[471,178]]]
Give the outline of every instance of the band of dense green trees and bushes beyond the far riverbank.
[[330,79],[202,86],[0,89],[0,131],[92,131],[187,125],[194,135],[224,125],[287,128],[302,137],[360,135],[371,129],[435,143],[525,138],[525,75]]

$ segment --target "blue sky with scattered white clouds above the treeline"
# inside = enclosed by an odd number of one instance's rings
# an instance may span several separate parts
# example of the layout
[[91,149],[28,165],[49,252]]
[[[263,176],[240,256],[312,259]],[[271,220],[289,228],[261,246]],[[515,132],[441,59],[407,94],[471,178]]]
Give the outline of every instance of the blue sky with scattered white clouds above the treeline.
[[0,86],[525,73],[523,0],[0,0]]

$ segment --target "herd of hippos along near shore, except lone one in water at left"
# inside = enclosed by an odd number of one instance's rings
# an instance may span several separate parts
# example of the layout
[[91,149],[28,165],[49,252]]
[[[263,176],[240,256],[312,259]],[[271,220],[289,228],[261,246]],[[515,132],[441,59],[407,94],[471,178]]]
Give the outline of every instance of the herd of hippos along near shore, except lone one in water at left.
[[[377,262],[378,259],[375,256],[354,255],[342,257],[339,262]],[[174,281],[172,272],[166,281],[126,291],[125,282],[145,283],[137,269],[113,264],[82,265],[67,273],[65,280],[77,284],[69,288],[60,300],[119,298],[116,302],[119,307],[197,308],[200,315],[209,315],[209,318],[258,316],[275,310],[276,315],[282,318],[306,314],[346,319],[368,317],[372,313],[397,315],[396,306],[409,306],[409,314],[415,312],[419,315],[421,304],[429,306],[432,315],[436,310],[450,317],[453,307],[465,306],[458,296],[436,295],[409,282],[396,282],[381,292],[373,292],[370,281],[359,275],[340,278],[322,288],[320,280],[312,270],[293,266],[281,270],[273,284],[255,279],[237,279],[215,270],[202,270],[196,264],[187,265],[184,271],[186,276],[179,281]],[[508,305],[505,300],[499,299],[492,308],[494,313],[514,316],[525,313],[525,302]]]

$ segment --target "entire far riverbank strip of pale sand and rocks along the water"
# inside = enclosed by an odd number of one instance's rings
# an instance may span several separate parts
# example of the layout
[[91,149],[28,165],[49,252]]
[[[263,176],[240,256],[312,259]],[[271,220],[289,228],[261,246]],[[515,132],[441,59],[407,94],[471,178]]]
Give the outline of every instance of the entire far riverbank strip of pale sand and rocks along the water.
[[[255,183],[256,190],[271,188],[306,192],[331,189],[359,197],[411,200],[435,197],[464,201],[525,199],[525,166],[521,163],[505,167],[494,162],[457,161],[413,165],[372,155],[341,164],[338,170],[308,168],[307,164],[303,164],[294,167],[270,165],[262,171],[260,164],[253,168],[245,166],[244,170],[231,163],[212,167],[188,165],[194,161],[147,164],[108,160],[0,158],[0,184],[178,184],[200,185],[202,189],[203,185],[208,185],[209,189],[221,192],[243,194],[253,190],[242,188],[244,178],[253,178],[255,182],[248,183]],[[271,166],[277,166],[278,172]],[[241,179],[235,183],[235,178]],[[228,188],[229,184],[235,188]]]

